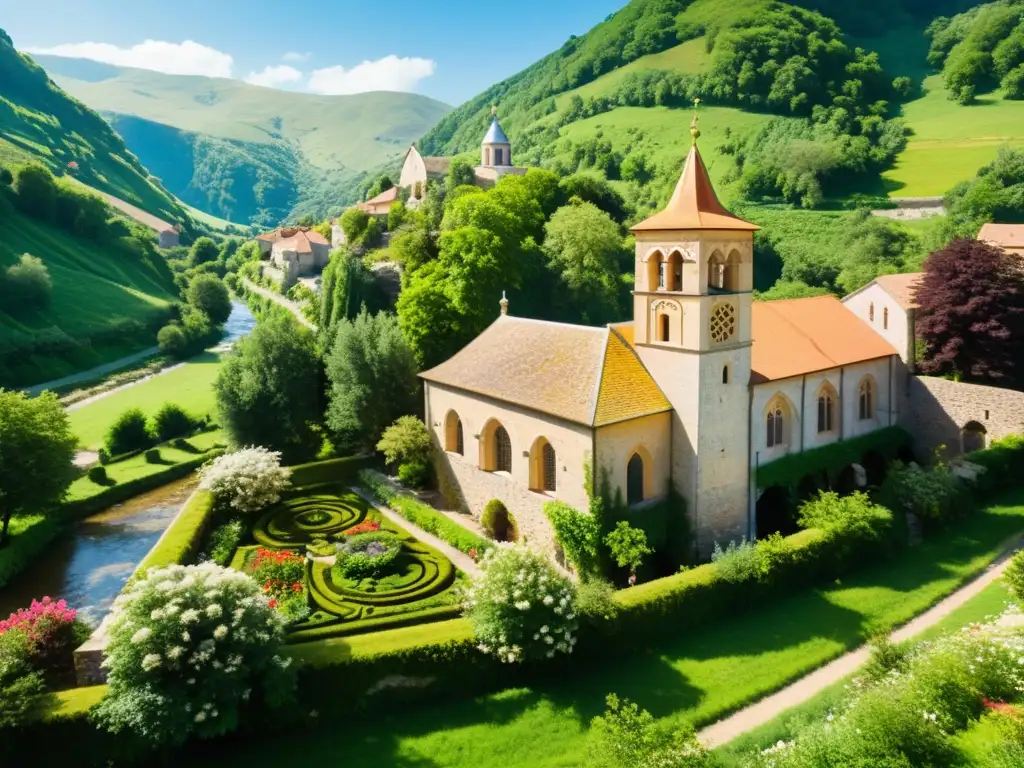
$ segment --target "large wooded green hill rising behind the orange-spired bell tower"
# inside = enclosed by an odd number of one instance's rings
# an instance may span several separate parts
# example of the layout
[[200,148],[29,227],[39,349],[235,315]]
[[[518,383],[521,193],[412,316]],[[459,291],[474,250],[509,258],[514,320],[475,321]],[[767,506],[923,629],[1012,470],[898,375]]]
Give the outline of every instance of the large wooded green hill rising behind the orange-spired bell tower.
[[[473,150],[498,103],[517,163],[602,175],[642,213],[678,174],[699,96],[701,147],[727,198],[942,195],[1000,145],[1024,144],[1024,102],[992,91],[962,105],[933,74],[926,29],[972,5],[633,0],[454,110],[421,148]],[[810,182],[793,170],[803,163],[820,164]]]

